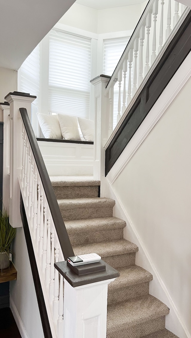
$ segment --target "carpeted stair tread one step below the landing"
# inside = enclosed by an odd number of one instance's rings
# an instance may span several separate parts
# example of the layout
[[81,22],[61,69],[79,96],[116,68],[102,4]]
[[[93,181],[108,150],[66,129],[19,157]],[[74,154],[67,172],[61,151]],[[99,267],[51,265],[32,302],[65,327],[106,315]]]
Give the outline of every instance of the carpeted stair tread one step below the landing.
[[113,208],[115,201],[111,198],[105,197],[91,197],[91,198],[62,198],[58,199],[60,209],[76,209],[76,208]]

